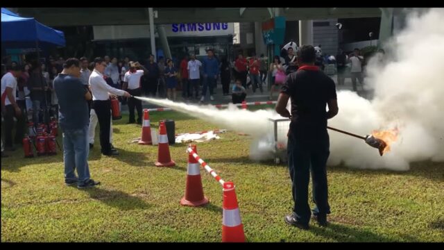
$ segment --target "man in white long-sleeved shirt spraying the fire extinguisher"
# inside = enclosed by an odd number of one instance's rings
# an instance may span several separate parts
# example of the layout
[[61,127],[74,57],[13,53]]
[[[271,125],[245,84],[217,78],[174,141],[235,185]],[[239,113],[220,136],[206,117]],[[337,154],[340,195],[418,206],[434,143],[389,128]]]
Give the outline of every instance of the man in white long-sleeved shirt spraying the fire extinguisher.
[[121,97],[130,97],[131,95],[126,91],[112,88],[106,83],[105,79],[103,79],[105,68],[106,63],[102,58],[94,59],[94,70],[91,76],[89,76],[89,87],[92,91],[94,110],[99,119],[102,154],[105,156],[117,156],[119,152],[115,149],[112,150],[110,144],[111,101],[109,94]]

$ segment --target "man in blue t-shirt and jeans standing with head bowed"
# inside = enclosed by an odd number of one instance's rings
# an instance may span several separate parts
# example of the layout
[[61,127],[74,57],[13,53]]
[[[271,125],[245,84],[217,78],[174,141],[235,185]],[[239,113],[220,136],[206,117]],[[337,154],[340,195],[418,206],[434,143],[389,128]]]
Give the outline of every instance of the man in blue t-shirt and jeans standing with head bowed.
[[[53,82],[58,97],[59,124],[63,131],[63,162],[65,184],[77,184],[78,188],[99,185],[89,176],[88,167],[88,104],[91,93],[80,81],[80,61],[69,58],[63,71]],[[74,174],[77,169],[77,174]]]

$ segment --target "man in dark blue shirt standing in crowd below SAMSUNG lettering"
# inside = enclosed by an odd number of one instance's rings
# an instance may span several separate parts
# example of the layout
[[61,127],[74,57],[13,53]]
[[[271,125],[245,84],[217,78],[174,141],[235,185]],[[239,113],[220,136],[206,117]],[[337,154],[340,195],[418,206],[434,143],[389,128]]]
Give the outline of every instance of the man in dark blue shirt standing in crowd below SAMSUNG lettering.
[[205,95],[207,94],[207,88],[210,87],[210,100],[214,101],[213,88],[216,85],[216,79],[219,75],[219,62],[214,58],[213,49],[207,50],[207,57],[203,58],[202,69],[203,69],[203,88],[202,97],[200,98],[200,103],[205,101]]

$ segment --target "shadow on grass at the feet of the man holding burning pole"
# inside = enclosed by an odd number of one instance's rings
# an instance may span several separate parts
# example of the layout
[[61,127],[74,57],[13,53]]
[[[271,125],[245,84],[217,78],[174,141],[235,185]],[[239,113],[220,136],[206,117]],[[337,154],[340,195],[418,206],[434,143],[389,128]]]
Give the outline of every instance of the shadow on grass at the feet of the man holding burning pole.
[[[396,238],[387,238],[368,230],[359,230],[341,224],[329,223],[327,227],[311,226],[309,229],[316,235],[330,238],[338,242],[393,242]],[[416,241],[415,238],[404,236],[404,240]]]

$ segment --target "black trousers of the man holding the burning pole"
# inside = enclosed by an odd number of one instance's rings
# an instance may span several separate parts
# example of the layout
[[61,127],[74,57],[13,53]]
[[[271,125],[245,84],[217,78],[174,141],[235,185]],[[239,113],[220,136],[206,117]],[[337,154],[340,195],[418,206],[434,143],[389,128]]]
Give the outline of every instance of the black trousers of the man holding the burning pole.
[[313,181],[313,201],[316,204],[314,213],[317,215],[330,213],[326,167],[330,156],[330,140],[326,129],[325,132],[321,131],[312,137],[308,134],[304,129],[290,125],[287,146],[289,173],[293,183],[293,212],[303,224],[308,224],[311,217],[308,203],[310,172]]

